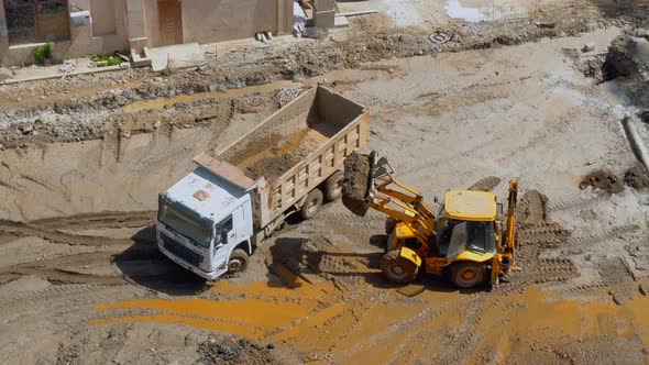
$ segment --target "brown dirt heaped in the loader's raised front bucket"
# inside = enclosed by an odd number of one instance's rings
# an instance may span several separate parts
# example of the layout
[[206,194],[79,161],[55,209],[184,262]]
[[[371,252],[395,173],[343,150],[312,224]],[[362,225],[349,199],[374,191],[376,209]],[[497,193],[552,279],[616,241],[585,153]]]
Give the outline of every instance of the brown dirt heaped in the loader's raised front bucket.
[[360,217],[364,217],[370,209],[370,204],[366,201],[370,168],[370,158],[367,155],[361,155],[354,152],[344,161],[342,203],[352,213]]

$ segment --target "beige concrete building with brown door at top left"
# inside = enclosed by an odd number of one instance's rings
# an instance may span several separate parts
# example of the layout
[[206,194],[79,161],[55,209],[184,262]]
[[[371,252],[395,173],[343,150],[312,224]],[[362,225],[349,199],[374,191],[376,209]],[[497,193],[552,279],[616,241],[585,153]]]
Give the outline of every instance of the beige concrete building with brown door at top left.
[[[80,11],[90,24],[70,19]],[[292,29],[293,0],[0,0],[0,62],[33,63],[44,43],[64,59]]]

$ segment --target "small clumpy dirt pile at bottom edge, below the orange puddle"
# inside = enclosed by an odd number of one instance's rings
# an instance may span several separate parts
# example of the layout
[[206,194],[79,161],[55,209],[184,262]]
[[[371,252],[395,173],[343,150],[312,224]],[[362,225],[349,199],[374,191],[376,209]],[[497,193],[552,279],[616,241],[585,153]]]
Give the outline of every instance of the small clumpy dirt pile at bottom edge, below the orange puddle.
[[197,364],[221,365],[221,364],[283,364],[273,354],[274,345],[265,347],[255,342],[241,339],[235,341],[232,336],[226,339],[210,338],[198,345],[200,358]]

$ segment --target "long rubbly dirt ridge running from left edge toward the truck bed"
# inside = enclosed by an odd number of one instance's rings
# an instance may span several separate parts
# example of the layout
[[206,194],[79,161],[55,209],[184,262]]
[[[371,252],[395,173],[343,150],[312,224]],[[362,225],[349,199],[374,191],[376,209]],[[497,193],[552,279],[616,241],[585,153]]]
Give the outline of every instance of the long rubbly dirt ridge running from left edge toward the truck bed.
[[[133,102],[143,102],[135,101]],[[158,101],[158,100],[154,100]],[[270,114],[278,109],[272,93],[244,96],[237,100],[208,98],[194,102],[175,102],[157,108],[148,107],[146,101],[135,108],[57,108],[53,110],[26,110],[13,112],[12,121],[0,128],[2,148],[25,144],[51,142],[77,142],[106,137],[107,132],[117,132],[120,137],[142,133],[164,131],[172,133],[175,129],[195,126],[227,126],[234,114]]]

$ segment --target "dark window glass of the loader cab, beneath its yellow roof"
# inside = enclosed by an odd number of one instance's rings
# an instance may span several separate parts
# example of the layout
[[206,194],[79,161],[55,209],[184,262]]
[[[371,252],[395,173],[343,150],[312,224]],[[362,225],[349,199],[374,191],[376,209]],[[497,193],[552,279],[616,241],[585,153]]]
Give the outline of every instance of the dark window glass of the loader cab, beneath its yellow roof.
[[492,222],[462,222],[452,228],[453,234],[447,257],[455,257],[464,251],[495,253],[496,239]]

